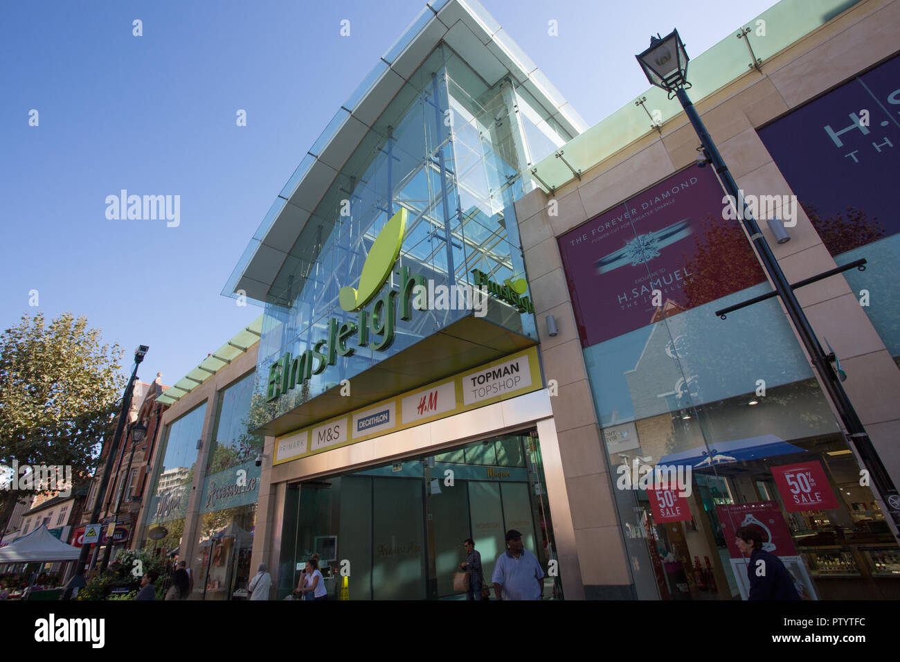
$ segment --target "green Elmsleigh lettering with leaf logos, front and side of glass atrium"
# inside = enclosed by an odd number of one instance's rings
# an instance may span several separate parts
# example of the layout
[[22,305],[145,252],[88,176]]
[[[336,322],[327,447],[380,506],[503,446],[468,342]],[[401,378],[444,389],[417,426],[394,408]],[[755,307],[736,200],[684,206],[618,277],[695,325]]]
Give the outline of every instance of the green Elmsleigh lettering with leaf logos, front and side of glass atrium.
[[[385,223],[365,258],[359,289],[341,287],[338,293],[340,307],[347,313],[356,312],[356,322],[341,322],[332,317],[328,322],[328,338],[316,341],[311,349],[293,358],[290,352],[284,352],[282,358],[269,367],[266,402],[277,400],[297,385],[308,381],[311,376],[322,373],[326,367],[336,365],[338,357],[353,355],[356,349],[349,347],[348,342],[355,336],[359,347],[367,346],[374,351],[390,348],[396,332],[398,296],[400,319],[403,321],[412,319],[413,310],[426,311],[429,304],[436,305],[436,298],[439,302],[435,292],[429,292],[426,277],[411,274],[410,268],[402,267],[398,272],[400,290],[387,289],[375,299],[371,310],[363,309],[383,289],[391,276],[392,268],[400,255],[406,220],[407,211],[401,208]],[[457,293],[468,293],[471,297],[468,304],[461,307],[471,308],[474,299],[482,297],[483,301],[483,297],[490,294],[512,305],[519,313],[535,312],[531,300],[523,296],[527,288],[524,279],[500,286],[478,269],[473,269],[472,273],[475,282],[471,290],[467,286],[456,286]]]

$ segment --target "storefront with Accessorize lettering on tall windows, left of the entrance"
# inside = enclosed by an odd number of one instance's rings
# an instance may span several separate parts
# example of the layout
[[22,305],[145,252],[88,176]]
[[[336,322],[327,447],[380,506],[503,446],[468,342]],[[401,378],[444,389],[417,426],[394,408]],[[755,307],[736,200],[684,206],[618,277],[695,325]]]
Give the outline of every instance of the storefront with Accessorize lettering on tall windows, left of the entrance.
[[184,560],[192,600],[247,597],[263,449],[253,432],[261,327],[262,316],[160,396],[169,406],[135,547]]

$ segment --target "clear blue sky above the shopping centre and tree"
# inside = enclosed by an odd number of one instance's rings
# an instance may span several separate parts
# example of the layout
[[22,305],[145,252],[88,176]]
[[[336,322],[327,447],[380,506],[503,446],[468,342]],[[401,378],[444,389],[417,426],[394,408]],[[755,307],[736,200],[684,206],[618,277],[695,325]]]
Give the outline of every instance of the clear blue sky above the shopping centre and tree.
[[[652,32],[678,27],[696,56],[772,4],[483,2],[589,124],[647,88],[634,54]],[[222,286],[306,150],[424,6],[5,4],[0,329],[39,308],[85,314],[126,350],[123,371],[145,344],[140,378],[175,383],[261,313]],[[121,189],[180,195],[180,224],[108,220]]]

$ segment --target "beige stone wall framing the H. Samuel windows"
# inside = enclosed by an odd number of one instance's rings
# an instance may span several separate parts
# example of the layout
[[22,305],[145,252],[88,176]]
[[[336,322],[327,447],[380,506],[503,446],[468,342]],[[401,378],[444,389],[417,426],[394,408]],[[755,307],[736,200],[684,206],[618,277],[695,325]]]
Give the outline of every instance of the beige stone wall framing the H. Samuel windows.
[[[900,1],[862,2],[763,62],[761,72],[750,69],[716,94],[695,100],[746,194],[792,193],[755,129],[893,55],[898,31]],[[636,65],[635,75],[640,75]],[[516,204],[546,376],[560,385],[552,398],[554,420],[585,585],[627,585],[631,580],[556,238],[689,166],[698,145],[680,113],[661,132],[649,132],[583,173],[581,181],[557,189],[557,215],[549,215],[550,196],[540,190]],[[766,223],[761,226],[791,282],[835,267],[802,210],[786,244],[774,241]],[[900,370],[895,361],[842,276],[797,290],[797,298],[819,340],[827,337],[841,357],[851,376],[844,388],[888,471],[900,482]],[[547,314],[554,315],[559,327],[554,338],[546,335]]]

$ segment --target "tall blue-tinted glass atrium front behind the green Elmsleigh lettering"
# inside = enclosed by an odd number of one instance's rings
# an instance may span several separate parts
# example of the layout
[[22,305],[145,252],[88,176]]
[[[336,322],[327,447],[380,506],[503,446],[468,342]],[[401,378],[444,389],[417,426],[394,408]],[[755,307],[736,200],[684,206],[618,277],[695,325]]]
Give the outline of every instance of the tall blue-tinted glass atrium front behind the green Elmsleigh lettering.
[[[401,208],[408,222],[388,287],[397,288],[403,267],[433,286],[471,285],[473,269],[498,284],[526,277],[513,201],[531,186],[518,175],[530,159],[527,133],[538,152],[545,150],[538,135],[551,144],[547,136],[568,139],[561,128],[536,123],[527,99],[509,79],[485,85],[453,50],[438,45],[338,172],[275,277],[258,374],[267,375],[285,351],[297,356],[328,339],[329,320],[356,320],[338,305],[338,292],[357,286],[374,240]],[[284,213],[286,205],[280,201],[272,213]],[[354,343],[351,356],[267,405],[266,415],[292,410],[466,314],[471,311],[429,309],[408,321],[398,316],[390,347]],[[537,337],[530,313],[510,307],[502,323]],[[265,389],[261,384],[257,393]]]

